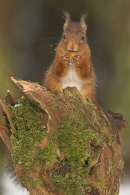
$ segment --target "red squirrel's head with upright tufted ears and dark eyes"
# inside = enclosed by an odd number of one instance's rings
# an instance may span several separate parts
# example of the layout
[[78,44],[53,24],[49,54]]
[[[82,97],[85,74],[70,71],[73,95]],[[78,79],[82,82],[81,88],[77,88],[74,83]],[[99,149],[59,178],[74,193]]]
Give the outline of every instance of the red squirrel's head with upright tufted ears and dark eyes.
[[65,51],[79,52],[86,46],[88,47],[86,41],[86,14],[81,16],[79,22],[72,22],[68,12],[64,12],[64,18],[63,35],[59,47],[64,50],[64,53]]

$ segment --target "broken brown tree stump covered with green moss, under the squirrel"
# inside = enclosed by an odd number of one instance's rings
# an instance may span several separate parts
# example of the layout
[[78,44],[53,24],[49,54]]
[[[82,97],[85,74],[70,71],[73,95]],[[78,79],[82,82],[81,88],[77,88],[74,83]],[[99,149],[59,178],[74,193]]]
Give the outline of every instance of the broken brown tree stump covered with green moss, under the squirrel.
[[12,78],[0,136],[11,152],[18,180],[31,195],[118,195],[123,169],[121,114],[83,100],[76,88],[52,92]]

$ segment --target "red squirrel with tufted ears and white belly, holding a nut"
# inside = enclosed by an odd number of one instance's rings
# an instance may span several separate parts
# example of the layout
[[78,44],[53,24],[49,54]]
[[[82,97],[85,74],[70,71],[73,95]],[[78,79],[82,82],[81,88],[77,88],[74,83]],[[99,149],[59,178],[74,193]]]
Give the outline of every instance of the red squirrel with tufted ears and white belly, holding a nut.
[[95,100],[95,73],[86,40],[86,15],[81,16],[80,22],[72,22],[67,12],[64,16],[63,35],[44,86],[53,91],[76,87],[83,98]]

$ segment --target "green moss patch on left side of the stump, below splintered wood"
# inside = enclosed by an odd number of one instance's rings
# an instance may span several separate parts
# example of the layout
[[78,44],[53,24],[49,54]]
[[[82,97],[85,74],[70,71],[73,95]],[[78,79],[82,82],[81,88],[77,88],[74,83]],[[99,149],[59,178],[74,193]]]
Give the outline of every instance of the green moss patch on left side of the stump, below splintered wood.
[[[56,138],[54,134],[46,133],[47,115],[34,101],[24,97],[18,103],[19,106],[9,106],[9,111],[12,113],[10,120],[16,127],[16,132],[12,129],[11,136],[13,165],[15,167],[19,164],[23,171],[27,171],[32,169],[34,164],[38,164],[40,168],[35,170],[38,175],[40,169],[57,161]],[[48,139],[48,144],[41,148],[40,144],[45,137]],[[24,184],[25,180],[30,179],[20,178],[20,180]],[[33,186],[35,184],[38,182],[35,181]]]

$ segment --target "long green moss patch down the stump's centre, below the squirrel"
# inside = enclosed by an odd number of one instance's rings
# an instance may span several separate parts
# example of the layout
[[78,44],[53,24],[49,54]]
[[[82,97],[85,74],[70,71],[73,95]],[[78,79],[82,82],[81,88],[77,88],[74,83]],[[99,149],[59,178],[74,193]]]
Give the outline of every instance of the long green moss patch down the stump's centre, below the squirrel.
[[83,113],[73,109],[69,118],[62,121],[58,128],[58,140],[60,151],[67,156],[60,163],[60,168],[55,170],[53,182],[63,189],[65,195],[90,192],[91,187],[86,187],[86,179],[90,174],[91,160],[95,157],[92,151],[93,147],[96,150],[101,144],[102,137],[89,128]]

